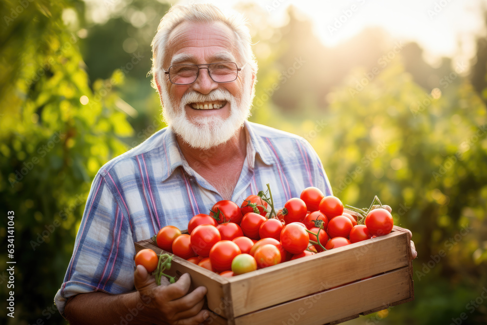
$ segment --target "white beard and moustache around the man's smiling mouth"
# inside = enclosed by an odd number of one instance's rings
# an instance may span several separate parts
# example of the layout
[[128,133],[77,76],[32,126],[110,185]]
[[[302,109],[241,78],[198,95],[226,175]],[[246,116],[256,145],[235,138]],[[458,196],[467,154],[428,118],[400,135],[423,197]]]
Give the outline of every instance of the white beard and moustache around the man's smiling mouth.
[[[167,87],[162,85],[162,114],[166,124],[192,148],[207,150],[225,143],[244,126],[250,116],[253,98],[251,78],[244,76],[244,91],[242,98],[236,98],[225,88],[212,90],[208,95],[196,91],[184,94],[179,107],[175,109]],[[185,106],[189,103],[224,100],[230,105],[230,116],[224,119],[220,116],[198,116],[188,119]]]

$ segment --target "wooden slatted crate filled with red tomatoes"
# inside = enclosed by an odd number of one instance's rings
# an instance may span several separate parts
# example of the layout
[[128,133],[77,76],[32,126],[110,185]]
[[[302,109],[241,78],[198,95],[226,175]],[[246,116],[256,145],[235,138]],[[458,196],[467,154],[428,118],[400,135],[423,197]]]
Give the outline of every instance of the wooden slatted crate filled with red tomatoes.
[[[206,324],[338,324],[414,300],[410,240],[394,226],[385,236],[230,278],[174,256],[169,274],[187,272],[194,287],[208,289]],[[135,247],[162,251],[150,239]]]

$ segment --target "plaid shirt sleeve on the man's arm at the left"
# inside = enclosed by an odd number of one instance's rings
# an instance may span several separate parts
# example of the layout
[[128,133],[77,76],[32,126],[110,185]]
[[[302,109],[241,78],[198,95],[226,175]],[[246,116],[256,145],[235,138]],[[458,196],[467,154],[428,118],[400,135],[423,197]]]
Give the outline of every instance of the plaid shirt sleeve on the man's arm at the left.
[[65,317],[66,301],[76,294],[131,291],[134,254],[127,217],[98,173],[88,195],[64,283],[54,299],[61,315]]

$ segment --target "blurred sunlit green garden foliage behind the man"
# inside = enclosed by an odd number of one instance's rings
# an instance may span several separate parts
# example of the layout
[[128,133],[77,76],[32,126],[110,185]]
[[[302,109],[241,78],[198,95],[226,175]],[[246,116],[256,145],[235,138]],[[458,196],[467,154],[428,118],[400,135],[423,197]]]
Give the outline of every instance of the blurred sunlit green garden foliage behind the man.
[[[146,74],[169,5],[122,2],[39,0],[17,16],[19,1],[0,2],[11,17],[0,38],[0,205],[15,211],[17,261],[16,318],[2,323],[66,323],[53,298],[94,174],[164,126]],[[485,39],[470,81],[450,58],[431,67],[415,43],[379,63],[394,46],[381,30],[325,48],[293,9],[280,28],[259,6],[237,10],[259,62],[251,120],[306,138],[344,203],[377,194],[412,230],[415,301],[351,324],[449,324],[462,312],[462,324],[485,324],[487,303],[467,309],[487,286]]]

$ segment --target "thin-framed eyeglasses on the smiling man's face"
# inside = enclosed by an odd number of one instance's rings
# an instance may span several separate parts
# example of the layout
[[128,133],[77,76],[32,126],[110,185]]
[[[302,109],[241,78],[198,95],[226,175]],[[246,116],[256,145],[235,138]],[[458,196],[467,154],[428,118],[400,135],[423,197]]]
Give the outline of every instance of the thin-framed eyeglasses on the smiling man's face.
[[[206,65],[206,67],[200,67]],[[232,82],[237,79],[239,71],[245,67],[238,68],[234,62],[218,62],[209,64],[176,64],[169,67],[169,71],[164,71],[169,75],[169,81],[175,85],[189,85],[196,81],[200,74],[200,69],[207,69],[210,78],[218,83]]]

